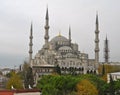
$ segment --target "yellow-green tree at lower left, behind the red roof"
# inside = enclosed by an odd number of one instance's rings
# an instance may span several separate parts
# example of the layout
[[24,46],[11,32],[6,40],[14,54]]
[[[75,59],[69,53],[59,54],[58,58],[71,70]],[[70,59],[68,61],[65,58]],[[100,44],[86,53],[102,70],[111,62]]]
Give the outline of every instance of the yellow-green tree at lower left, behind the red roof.
[[15,72],[12,72],[11,77],[9,78],[6,88],[11,89],[11,87],[14,87],[15,89],[22,89],[23,83],[19,75],[17,75]]

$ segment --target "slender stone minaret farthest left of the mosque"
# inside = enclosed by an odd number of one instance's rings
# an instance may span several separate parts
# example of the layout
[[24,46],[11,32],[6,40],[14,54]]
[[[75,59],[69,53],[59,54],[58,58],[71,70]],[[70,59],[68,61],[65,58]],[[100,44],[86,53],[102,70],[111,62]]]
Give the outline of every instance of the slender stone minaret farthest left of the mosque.
[[33,46],[33,43],[32,43],[32,39],[33,39],[32,23],[31,23],[30,37],[29,38],[30,38],[30,43],[29,43],[29,63],[30,63],[32,60],[32,53],[33,53],[33,50],[32,50],[32,46]]

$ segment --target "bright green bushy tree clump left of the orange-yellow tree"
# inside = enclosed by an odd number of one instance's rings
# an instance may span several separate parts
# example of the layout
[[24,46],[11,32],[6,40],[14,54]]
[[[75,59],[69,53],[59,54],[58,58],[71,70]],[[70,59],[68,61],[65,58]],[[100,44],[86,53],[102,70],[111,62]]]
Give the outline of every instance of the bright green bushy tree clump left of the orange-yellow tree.
[[48,75],[38,81],[37,88],[42,89],[43,95],[75,95],[78,81],[79,78],[69,75]]

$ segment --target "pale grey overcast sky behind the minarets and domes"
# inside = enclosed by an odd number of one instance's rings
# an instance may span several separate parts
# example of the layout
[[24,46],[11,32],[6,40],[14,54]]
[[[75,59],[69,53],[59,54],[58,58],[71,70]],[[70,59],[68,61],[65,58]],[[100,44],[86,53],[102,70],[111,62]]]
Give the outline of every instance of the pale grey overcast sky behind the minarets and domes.
[[109,40],[110,61],[120,61],[120,0],[0,0],[0,68],[19,66],[28,59],[30,24],[33,22],[33,55],[44,44],[46,7],[50,39],[68,37],[79,50],[94,58],[95,17],[99,15],[100,61],[104,40]]

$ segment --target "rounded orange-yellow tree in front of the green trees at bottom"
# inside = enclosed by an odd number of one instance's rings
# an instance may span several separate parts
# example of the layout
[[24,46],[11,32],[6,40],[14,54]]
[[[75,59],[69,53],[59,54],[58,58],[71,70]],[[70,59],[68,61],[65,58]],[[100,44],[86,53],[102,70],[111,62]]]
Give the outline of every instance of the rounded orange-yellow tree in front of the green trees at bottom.
[[97,88],[86,79],[80,81],[76,88],[77,95],[98,95]]

